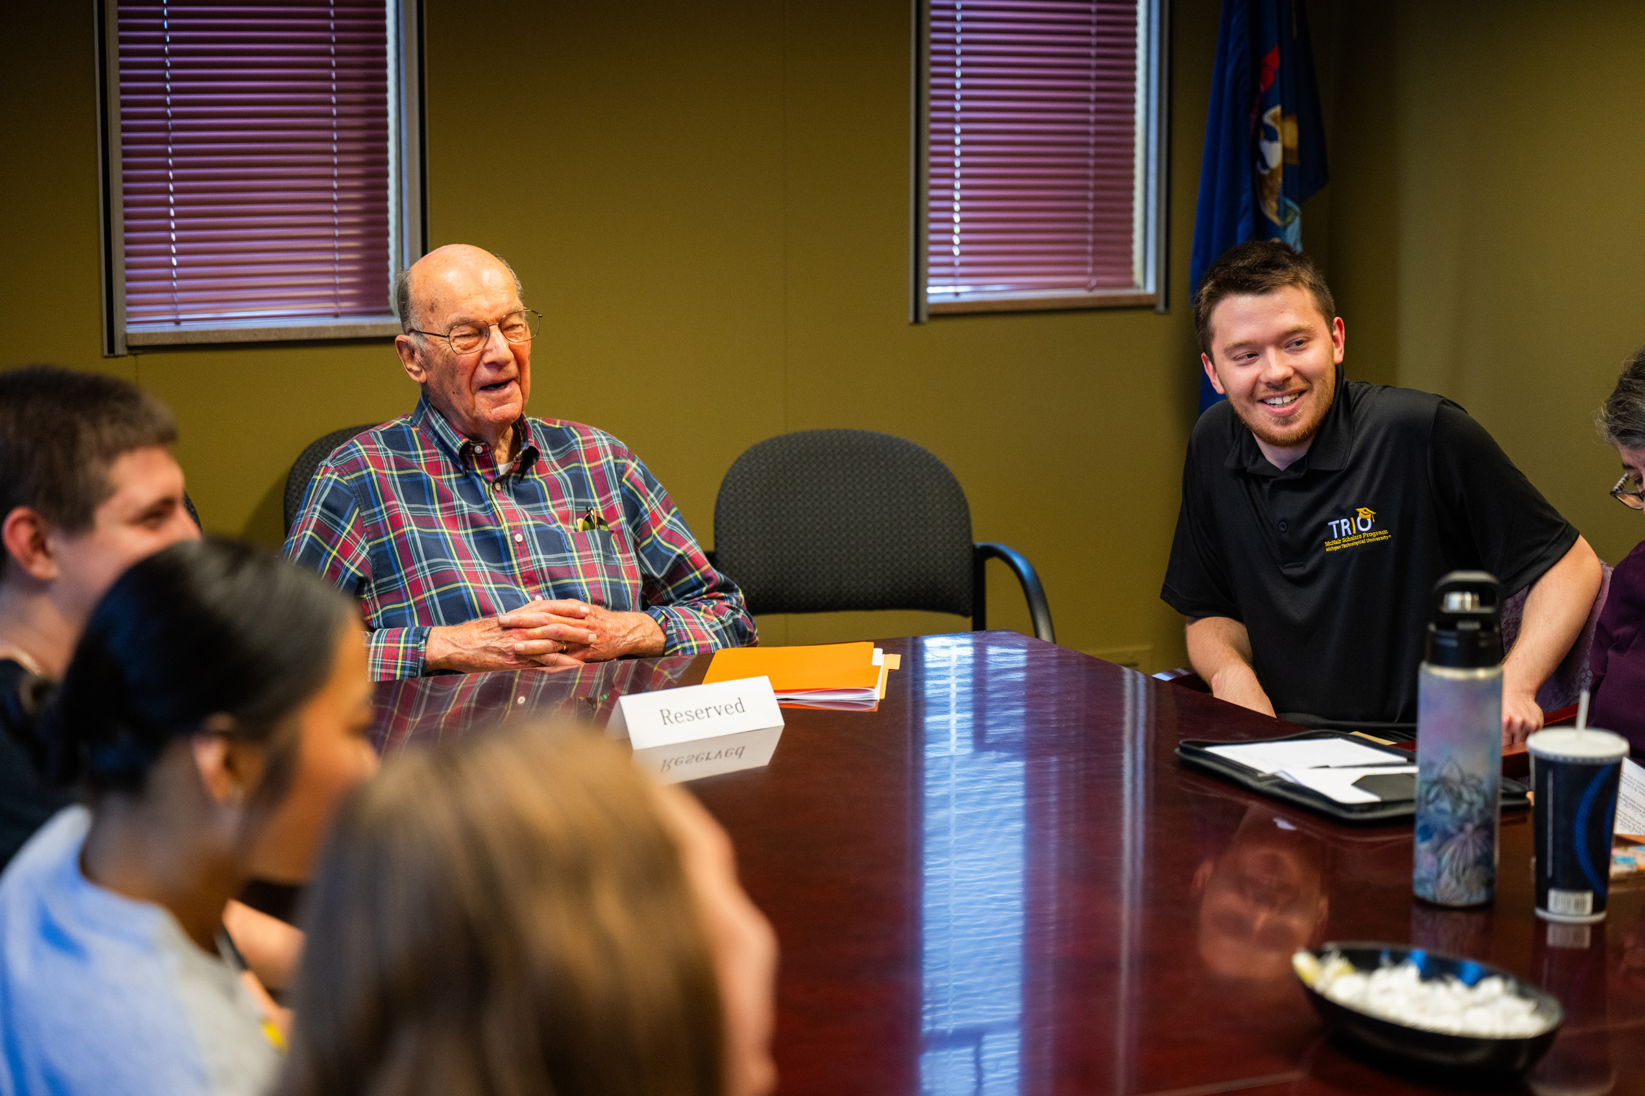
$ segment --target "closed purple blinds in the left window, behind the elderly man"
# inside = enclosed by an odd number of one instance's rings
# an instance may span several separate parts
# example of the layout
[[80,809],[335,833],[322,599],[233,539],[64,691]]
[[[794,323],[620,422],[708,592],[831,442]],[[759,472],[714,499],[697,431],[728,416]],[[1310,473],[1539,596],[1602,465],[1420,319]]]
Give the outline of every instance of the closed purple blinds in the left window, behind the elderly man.
[[118,7],[132,330],[390,312],[383,0]]

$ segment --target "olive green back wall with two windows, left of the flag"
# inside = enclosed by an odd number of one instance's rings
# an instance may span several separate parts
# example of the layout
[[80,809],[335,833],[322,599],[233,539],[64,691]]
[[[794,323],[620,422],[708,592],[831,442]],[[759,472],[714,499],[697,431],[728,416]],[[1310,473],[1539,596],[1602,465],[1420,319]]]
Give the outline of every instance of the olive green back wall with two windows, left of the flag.
[[[1170,315],[908,322],[910,8],[888,0],[428,0],[431,243],[515,265],[548,317],[531,411],[628,442],[704,541],[750,444],[888,431],[948,462],[979,539],[1035,560],[1064,644],[1175,665],[1181,621],[1158,588],[1193,419],[1181,306],[1216,12],[1176,5]],[[10,20],[30,48],[0,69],[0,365],[153,389],[207,527],[275,544],[298,450],[401,414],[415,388],[387,342],[99,357],[92,5]],[[992,567],[992,621],[1026,629]],[[762,633],[961,626],[885,613]]]

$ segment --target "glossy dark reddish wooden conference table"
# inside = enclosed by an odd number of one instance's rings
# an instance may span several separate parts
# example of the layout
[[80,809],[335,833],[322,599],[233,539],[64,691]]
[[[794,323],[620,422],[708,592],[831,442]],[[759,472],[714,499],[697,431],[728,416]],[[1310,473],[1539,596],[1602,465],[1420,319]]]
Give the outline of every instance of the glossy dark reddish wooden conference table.
[[[1351,830],[1181,769],[1273,720],[1015,633],[883,641],[878,711],[785,710],[772,764],[689,784],[781,940],[781,1093],[1418,1093],[1323,1037],[1290,971],[1324,940],[1487,960],[1564,1002],[1507,1091],[1645,1091],[1645,892],[1531,914],[1530,825],[1494,907],[1410,889],[1411,830]],[[498,718],[609,711],[707,657],[378,687],[385,753]]]

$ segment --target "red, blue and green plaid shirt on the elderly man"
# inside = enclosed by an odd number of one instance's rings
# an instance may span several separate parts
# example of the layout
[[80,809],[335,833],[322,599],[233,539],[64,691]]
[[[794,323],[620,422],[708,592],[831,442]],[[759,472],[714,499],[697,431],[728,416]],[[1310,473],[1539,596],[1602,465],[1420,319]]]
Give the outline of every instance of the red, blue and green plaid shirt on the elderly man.
[[[375,680],[424,674],[429,628],[538,598],[645,611],[666,654],[757,642],[737,583],[622,442],[530,417],[515,439],[515,465],[497,475],[487,445],[419,399],[316,470],[285,554],[360,598]],[[589,509],[609,529],[579,531]]]

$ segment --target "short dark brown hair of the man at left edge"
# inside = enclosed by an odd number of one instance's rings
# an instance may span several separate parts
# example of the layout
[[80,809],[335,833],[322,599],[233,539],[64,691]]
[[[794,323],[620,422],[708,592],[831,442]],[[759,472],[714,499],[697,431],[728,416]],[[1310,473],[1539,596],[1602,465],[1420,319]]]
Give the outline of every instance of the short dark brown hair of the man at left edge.
[[171,412],[130,381],[54,365],[0,373],[0,519],[28,506],[84,532],[114,493],[109,465],[176,440]]

